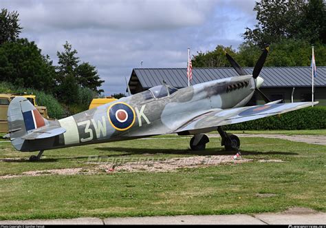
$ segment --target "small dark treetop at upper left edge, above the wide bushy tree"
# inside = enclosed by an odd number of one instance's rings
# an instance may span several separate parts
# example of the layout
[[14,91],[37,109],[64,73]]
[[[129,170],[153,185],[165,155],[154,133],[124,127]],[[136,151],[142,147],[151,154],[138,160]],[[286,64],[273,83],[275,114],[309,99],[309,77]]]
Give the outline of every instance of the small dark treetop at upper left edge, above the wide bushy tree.
[[8,12],[7,9],[1,9],[0,12],[0,45],[6,41],[15,41],[21,32],[19,25],[19,14],[17,11]]

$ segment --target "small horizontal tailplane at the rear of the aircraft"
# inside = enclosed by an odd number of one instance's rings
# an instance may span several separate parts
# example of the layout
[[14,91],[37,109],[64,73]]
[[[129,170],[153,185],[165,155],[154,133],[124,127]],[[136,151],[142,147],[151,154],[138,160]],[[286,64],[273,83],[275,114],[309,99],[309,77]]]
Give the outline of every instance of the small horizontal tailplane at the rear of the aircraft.
[[41,138],[51,138],[54,136],[58,136],[59,134],[63,134],[66,132],[66,129],[58,126],[49,126],[49,127],[41,127],[36,129],[34,132],[22,136],[22,139],[25,140],[35,140]]

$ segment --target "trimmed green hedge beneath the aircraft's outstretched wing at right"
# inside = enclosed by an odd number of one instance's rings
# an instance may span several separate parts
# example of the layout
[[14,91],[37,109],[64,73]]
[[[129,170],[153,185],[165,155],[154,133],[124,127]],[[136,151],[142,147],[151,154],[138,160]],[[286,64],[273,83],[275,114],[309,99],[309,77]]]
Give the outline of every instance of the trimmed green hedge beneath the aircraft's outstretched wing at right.
[[232,130],[264,129],[326,129],[326,107],[306,107],[285,114],[259,118],[254,121],[227,125]]

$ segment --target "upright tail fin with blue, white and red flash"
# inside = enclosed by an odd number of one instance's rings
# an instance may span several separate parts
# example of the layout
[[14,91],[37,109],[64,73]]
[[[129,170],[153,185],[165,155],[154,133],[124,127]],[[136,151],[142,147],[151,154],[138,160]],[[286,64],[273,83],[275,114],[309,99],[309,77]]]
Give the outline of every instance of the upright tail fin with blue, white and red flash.
[[22,96],[16,96],[8,107],[8,128],[12,145],[21,150],[23,136],[34,129],[44,127],[48,121],[41,116],[34,105]]

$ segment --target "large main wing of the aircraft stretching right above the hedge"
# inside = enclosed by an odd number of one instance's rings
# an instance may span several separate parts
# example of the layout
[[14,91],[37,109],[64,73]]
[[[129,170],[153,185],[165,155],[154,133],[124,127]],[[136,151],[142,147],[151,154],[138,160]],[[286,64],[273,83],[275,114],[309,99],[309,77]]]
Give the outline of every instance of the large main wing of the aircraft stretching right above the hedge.
[[[318,102],[314,102],[314,105]],[[311,102],[298,103],[268,103],[265,105],[256,105],[249,107],[236,107],[228,110],[211,110],[205,114],[196,116],[187,123],[177,128],[175,132],[191,131],[194,129],[205,129],[209,127],[218,127],[223,125],[230,125],[234,123],[242,123],[252,121],[257,118],[264,118],[267,116],[274,116],[293,110],[298,110],[303,107],[312,106]]]

